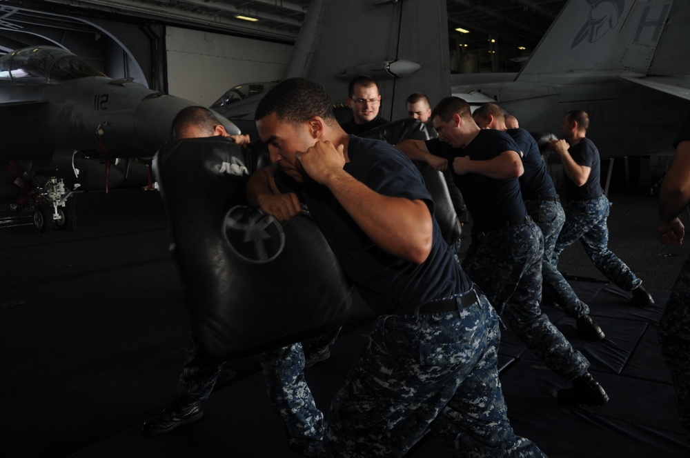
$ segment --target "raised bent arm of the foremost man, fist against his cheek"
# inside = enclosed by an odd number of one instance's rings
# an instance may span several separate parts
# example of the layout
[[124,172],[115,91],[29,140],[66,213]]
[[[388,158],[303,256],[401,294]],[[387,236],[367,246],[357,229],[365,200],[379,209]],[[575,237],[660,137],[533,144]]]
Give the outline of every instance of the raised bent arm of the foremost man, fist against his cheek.
[[431,252],[433,220],[422,200],[375,192],[343,169],[342,146],[318,142],[297,158],[310,177],[326,186],[377,246],[393,256],[422,263]]

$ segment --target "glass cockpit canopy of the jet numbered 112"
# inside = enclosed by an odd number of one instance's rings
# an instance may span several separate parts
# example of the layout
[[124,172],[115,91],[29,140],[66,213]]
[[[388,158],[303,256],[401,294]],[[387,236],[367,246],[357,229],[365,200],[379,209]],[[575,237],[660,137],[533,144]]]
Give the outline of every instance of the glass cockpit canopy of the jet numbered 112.
[[0,57],[0,79],[48,82],[104,76],[75,54],[51,46],[23,48]]

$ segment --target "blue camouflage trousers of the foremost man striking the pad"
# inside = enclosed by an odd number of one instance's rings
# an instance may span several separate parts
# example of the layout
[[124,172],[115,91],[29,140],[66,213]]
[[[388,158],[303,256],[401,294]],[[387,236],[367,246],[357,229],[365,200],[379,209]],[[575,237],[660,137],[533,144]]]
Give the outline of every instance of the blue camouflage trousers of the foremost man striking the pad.
[[470,392],[467,410],[457,412],[464,426],[459,434],[472,435],[482,456],[515,446],[497,380],[457,392],[475,370],[482,371],[477,378],[497,377],[495,357],[485,356],[496,351],[496,328],[497,316],[483,295],[480,305],[459,314],[379,317],[333,399],[322,456],[402,457],[451,398]]

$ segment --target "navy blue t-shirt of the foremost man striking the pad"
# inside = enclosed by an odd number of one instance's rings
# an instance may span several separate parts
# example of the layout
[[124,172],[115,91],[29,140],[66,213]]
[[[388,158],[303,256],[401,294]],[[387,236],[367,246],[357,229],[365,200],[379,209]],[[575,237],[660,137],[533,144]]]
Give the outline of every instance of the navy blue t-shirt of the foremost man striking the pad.
[[[422,175],[400,150],[384,141],[351,135],[348,157],[344,170],[355,179],[382,195],[422,199],[433,215],[433,201]],[[435,219],[431,253],[424,263],[413,263],[379,248],[326,186],[311,179],[299,186],[285,174],[281,179],[306,203],[343,271],[377,314],[414,312],[428,301],[472,287]]]

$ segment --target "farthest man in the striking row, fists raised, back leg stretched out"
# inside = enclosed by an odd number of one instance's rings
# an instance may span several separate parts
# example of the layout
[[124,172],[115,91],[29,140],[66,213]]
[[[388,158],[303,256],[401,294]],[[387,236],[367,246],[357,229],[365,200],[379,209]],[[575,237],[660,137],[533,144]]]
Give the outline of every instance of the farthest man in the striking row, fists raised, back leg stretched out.
[[564,139],[553,141],[553,148],[563,163],[563,184],[568,206],[566,221],[553,249],[551,263],[558,266],[561,252],[580,240],[594,266],[618,288],[631,291],[631,302],[638,307],[654,303],[642,280],[609,250],[607,219],[611,202],[600,184],[599,150],[586,138],[589,116],[574,110],[563,117]]

